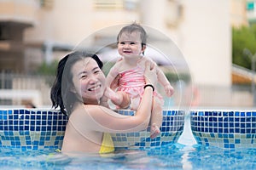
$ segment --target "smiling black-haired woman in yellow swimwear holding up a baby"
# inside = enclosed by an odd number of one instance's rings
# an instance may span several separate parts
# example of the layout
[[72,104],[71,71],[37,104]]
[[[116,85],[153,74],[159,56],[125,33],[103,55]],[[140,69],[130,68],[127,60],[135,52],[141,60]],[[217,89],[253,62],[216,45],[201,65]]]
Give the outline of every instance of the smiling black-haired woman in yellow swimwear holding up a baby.
[[[99,105],[103,96],[111,99],[110,88],[106,88],[106,77],[102,72],[102,61],[96,54],[73,52],[59,62],[55,83],[51,89],[51,100],[55,108],[69,116],[62,144],[62,152],[108,153],[113,152],[113,141],[109,133],[131,133],[144,130],[150,119],[155,68],[146,64],[145,92],[136,116],[123,116]],[[129,105],[123,95],[120,105]],[[66,109],[66,110],[65,110]]]

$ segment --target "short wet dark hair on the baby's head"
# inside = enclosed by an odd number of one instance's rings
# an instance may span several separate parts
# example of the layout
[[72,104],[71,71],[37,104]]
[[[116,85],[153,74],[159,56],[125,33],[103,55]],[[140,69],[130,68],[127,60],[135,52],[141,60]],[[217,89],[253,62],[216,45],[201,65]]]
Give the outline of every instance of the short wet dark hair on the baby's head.
[[129,26],[124,26],[120,31],[117,36],[117,42],[119,42],[119,38],[124,32],[132,33],[132,32],[139,32],[140,33],[140,38],[142,40],[142,47],[144,47],[147,43],[147,32],[144,30],[143,26],[140,26],[137,23],[132,23]]

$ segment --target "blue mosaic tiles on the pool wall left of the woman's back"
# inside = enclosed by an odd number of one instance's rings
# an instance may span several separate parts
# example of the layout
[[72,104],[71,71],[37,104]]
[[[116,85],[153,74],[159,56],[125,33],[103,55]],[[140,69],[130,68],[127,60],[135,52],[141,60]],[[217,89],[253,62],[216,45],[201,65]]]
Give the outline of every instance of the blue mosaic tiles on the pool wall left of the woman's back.
[[[53,119],[52,114],[61,115],[61,119]],[[55,117],[57,118],[57,117]],[[48,120],[51,120],[49,122]],[[48,122],[43,125],[41,122]],[[60,122],[60,123],[58,123]],[[52,123],[55,123],[52,124]],[[61,124],[61,137],[57,138],[56,124]],[[38,150],[40,148],[61,148],[67,117],[59,111],[3,110],[0,111],[0,147],[20,150]],[[48,128],[46,126],[49,125]],[[53,126],[53,128],[52,128]],[[45,137],[45,135],[46,136]],[[31,138],[38,136],[38,138]],[[45,141],[48,143],[46,144]],[[43,147],[42,147],[43,146]]]

